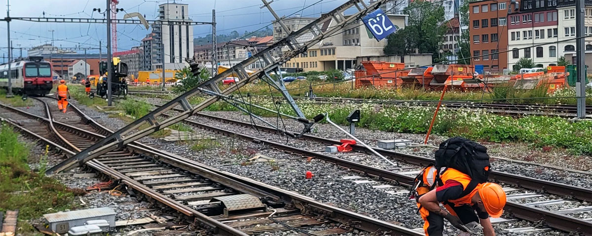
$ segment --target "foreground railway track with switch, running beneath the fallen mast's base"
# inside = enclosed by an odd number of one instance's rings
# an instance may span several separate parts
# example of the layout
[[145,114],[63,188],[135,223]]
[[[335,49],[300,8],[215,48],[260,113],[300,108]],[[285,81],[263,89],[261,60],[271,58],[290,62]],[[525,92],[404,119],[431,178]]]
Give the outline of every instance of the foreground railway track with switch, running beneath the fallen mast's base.
[[[71,106],[78,117],[56,112],[38,98],[44,115],[0,104],[0,117],[66,156],[73,156],[111,131]],[[110,151],[86,166],[124,183],[128,192],[143,195],[178,211],[199,227],[198,235],[422,235],[306,196],[221,172],[201,163],[141,143]]]

